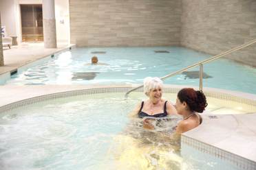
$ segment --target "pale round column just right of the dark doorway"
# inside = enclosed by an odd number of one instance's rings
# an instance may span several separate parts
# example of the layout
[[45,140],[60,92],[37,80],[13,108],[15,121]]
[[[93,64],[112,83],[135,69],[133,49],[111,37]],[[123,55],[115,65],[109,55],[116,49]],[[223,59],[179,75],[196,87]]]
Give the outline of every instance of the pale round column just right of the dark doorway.
[[56,48],[54,0],[43,0],[43,42],[45,48]]

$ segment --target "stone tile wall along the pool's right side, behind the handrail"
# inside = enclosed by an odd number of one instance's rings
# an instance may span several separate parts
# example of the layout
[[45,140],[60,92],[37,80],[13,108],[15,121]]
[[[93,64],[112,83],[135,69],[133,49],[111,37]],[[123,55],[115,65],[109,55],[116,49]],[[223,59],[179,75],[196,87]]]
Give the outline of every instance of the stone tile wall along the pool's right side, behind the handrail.
[[[213,55],[256,38],[255,0],[182,0],[180,43]],[[256,44],[227,58],[256,66]]]

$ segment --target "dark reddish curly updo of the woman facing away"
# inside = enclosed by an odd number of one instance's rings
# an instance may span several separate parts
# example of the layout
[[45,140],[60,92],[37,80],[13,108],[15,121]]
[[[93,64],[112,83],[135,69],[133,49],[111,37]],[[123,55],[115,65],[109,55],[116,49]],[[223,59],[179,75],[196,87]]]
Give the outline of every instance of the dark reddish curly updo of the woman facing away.
[[178,93],[180,102],[186,102],[191,111],[203,112],[207,106],[206,97],[200,90],[193,88],[182,88]]

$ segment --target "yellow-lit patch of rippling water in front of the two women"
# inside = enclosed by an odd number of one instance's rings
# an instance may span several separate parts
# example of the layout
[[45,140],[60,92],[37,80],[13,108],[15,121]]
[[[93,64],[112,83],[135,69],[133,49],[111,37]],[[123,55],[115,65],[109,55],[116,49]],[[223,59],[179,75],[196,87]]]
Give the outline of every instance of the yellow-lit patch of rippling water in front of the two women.
[[180,117],[155,119],[154,130],[145,130],[142,119],[133,119],[122,134],[116,136],[114,153],[117,169],[188,169],[180,157],[180,136],[175,126]]

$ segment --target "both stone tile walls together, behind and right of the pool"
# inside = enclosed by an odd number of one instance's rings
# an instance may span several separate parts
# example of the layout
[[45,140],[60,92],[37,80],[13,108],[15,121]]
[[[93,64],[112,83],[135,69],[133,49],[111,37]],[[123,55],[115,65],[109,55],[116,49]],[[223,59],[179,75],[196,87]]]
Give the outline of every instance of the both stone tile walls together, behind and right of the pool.
[[[181,45],[212,55],[256,38],[255,0],[70,0],[71,42]],[[256,44],[228,56],[256,66]]]

